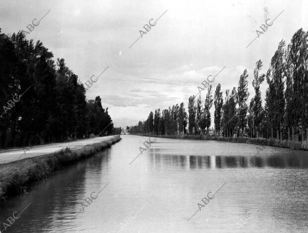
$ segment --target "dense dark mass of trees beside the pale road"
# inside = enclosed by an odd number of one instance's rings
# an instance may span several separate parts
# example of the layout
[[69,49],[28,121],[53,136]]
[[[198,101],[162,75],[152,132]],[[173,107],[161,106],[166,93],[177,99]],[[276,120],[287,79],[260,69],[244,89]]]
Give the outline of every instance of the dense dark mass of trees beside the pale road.
[[41,41],[0,29],[0,148],[113,133],[108,108]]

